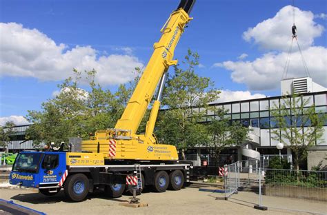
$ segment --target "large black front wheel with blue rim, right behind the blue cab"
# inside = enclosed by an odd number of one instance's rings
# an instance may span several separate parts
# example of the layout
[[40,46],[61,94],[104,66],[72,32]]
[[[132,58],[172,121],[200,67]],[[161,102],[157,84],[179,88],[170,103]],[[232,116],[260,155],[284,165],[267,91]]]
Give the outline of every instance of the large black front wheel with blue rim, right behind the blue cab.
[[73,174],[66,179],[63,191],[72,201],[83,201],[88,195],[90,184],[85,174]]

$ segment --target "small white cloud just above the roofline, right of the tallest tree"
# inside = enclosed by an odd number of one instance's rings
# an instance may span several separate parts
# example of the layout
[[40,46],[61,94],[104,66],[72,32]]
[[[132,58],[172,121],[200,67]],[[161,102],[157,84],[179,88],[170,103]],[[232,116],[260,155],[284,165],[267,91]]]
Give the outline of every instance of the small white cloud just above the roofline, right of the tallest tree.
[[265,98],[264,94],[251,94],[250,91],[230,91],[230,90],[221,90],[219,98],[214,103],[221,103],[227,101],[241,101],[247,99],[258,99]]

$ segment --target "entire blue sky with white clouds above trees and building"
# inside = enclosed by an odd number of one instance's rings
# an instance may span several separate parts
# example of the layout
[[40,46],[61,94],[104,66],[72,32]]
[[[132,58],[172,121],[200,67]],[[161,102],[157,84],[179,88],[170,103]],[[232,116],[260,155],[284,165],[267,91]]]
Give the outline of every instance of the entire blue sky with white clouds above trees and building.
[[[297,39],[313,81],[327,87],[327,1],[295,0]],[[27,123],[72,68],[97,70],[115,91],[143,68],[178,0],[0,0],[0,125]],[[277,96],[292,39],[291,0],[198,0],[177,45],[200,55],[199,76],[221,89],[218,101]],[[305,76],[296,46],[288,78]],[[172,70],[170,69],[170,72]],[[86,87],[81,85],[81,88]]]

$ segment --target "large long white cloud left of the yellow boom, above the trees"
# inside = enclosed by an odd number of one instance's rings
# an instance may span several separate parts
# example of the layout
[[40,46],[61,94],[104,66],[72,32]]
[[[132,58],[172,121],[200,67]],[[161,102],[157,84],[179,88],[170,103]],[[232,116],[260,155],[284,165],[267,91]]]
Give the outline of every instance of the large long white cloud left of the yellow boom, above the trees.
[[[143,67],[137,57],[128,54],[99,56],[90,46],[68,49],[56,44],[37,29],[18,23],[0,23],[0,76],[30,76],[41,81],[59,81],[77,70],[97,70],[95,81],[103,85],[126,83],[135,67]],[[128,52],[128,48],[125,52]]]

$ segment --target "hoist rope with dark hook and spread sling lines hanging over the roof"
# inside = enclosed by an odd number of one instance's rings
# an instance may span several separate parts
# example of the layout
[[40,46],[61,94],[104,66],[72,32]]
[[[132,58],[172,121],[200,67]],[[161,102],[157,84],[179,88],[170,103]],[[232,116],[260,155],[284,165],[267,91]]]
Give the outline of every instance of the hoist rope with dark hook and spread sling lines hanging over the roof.
[[283,72],[283,76],[281,79],[287,79],[287,72],[288,72],[288,67],[290,65],[290,57],[291,57],[291,54],[292,54],[292,50],[293,50],[293,42],[294,40],[297,42],[297,48],[299,49],[299,54],[301,56],[301,61],[302,61],[302,64],[304,66],[304,70],[306,72],[306,75],[310,77],[310,72],[308,70],[308,66],[306,65],[306,61],[304,59],[304,56],[303,56],[303,53],[302,53],[302,50],[301,50],[301,47],[299,45],[299,41],[297,40],[297,25],[295,25],[295,0],[293,0],[293,4],[292,4],[292,10],[293,10],[293,26],[292,26],[292,41],[290,42],[290,47],[288,48],[288,55],[287,55],[287,58],[286,58],[286,63],[285,63],[285,66],[284,66],[284,72]]

